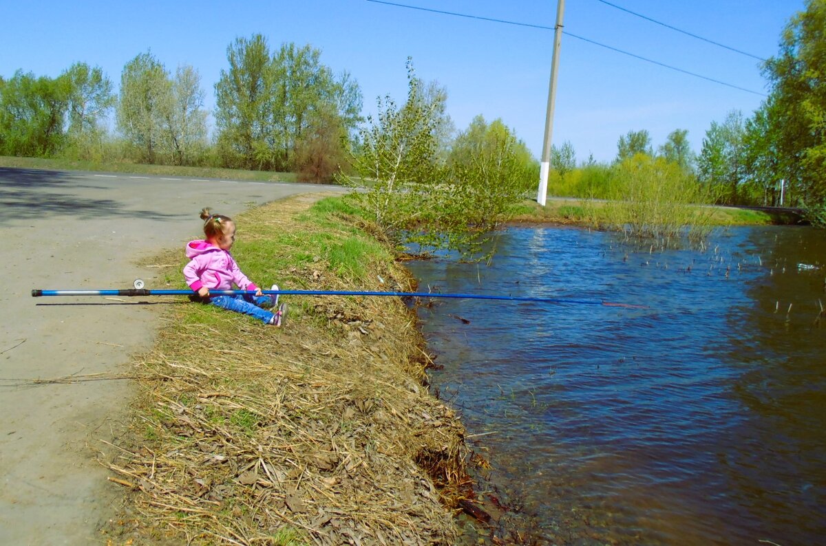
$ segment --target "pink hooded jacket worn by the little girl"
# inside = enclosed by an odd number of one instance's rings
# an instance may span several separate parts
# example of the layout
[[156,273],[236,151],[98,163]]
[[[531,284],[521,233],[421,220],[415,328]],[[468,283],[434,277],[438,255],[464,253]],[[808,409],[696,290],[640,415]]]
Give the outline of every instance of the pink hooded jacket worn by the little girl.
[[242,290],[257,290],[235,263],[230,252],[204,240],[187,244],[189,263],[183,267],[183,278],[194,292],[206,286],[211,290],[229,290],[233,283]]

